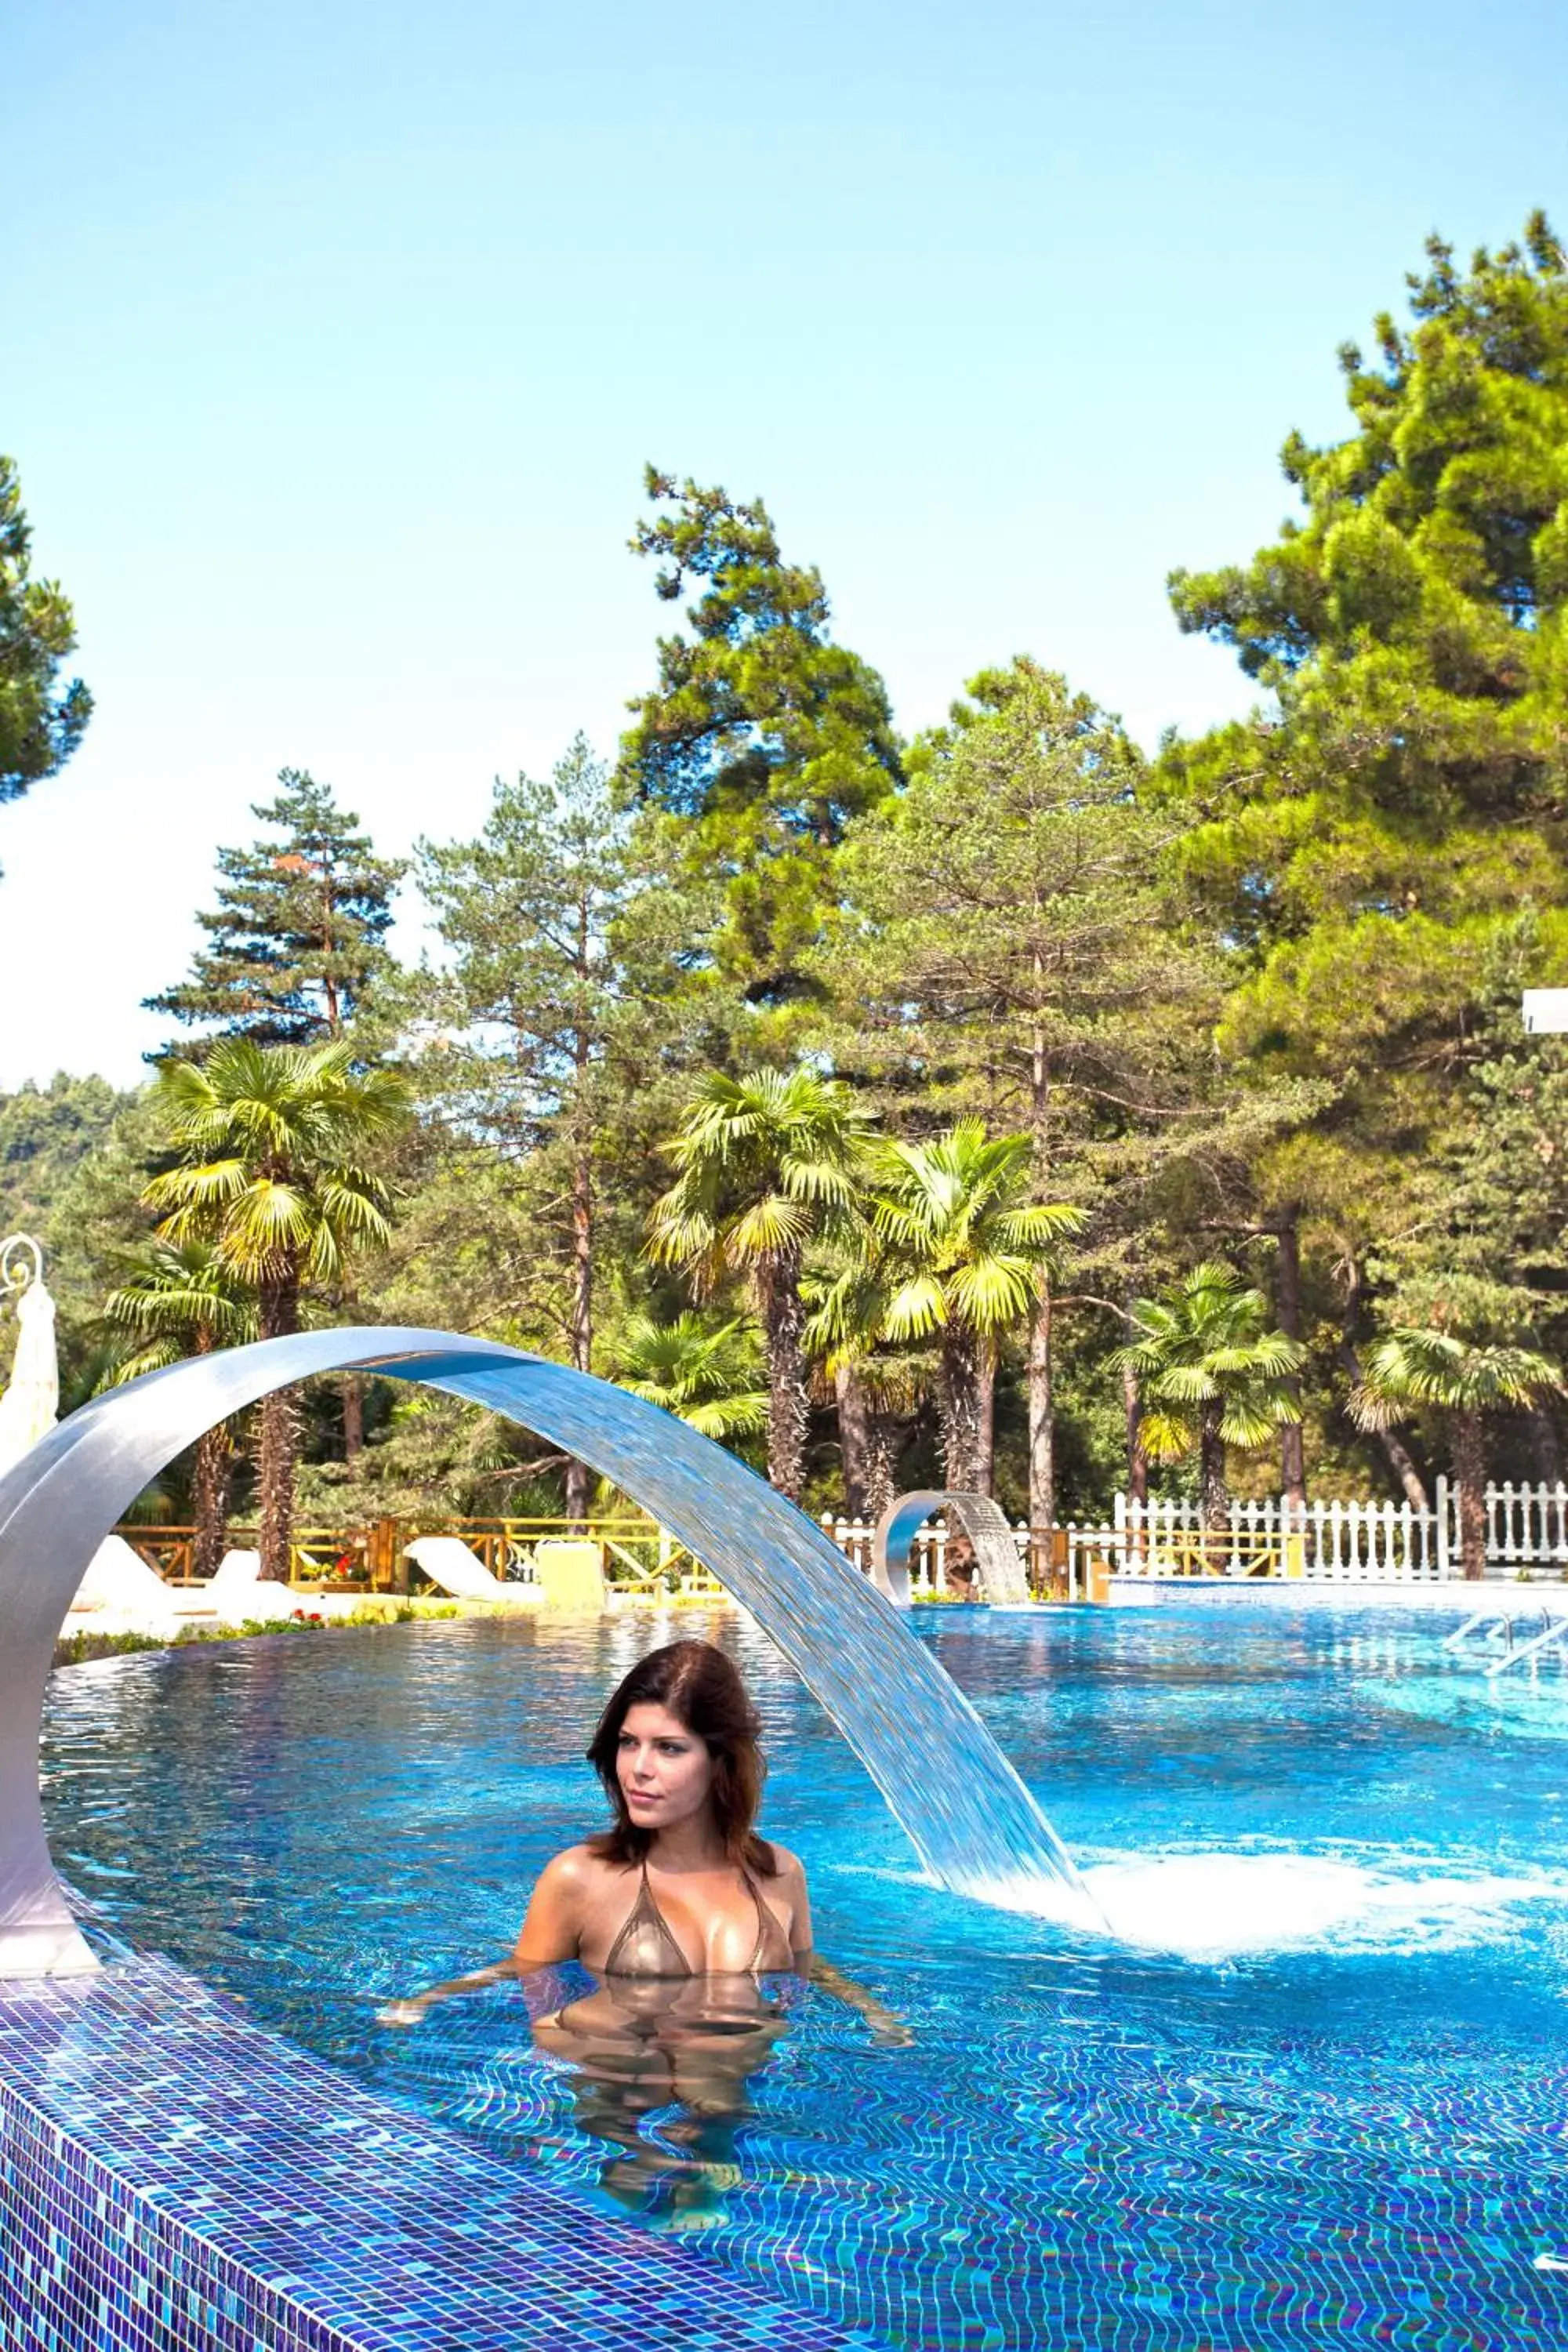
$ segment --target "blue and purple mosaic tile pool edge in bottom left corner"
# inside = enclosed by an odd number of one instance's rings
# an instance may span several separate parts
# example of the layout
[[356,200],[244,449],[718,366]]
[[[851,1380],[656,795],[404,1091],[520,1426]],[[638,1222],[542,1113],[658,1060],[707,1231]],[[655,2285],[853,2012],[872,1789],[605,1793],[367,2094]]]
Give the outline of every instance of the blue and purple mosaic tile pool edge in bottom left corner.
[[0,1997],[0,2352],[842,2352],[169,1962]]

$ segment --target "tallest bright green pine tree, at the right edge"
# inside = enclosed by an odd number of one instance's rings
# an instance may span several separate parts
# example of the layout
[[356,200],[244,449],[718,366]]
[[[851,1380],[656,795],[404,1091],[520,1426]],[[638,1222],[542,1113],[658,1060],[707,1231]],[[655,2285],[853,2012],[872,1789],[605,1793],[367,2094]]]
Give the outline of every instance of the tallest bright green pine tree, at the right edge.
[[1338,1287],[1335,1364],[1363,1298],[1410,1322],[1427,1270],[1509,1284],[1516,1244],[1542,1275],[1556,1247],[1509,1204],[1542,1204],[1542,1162],[1505,1157],[1497,1023],[1568,976],[1568,268],[1535,216],[1469,268],[1432,240],[1408,287],[1410,325],[1342,353],[1347,437],[1286,442],[1302,517],[1171,581],[1182,628],[1269,691],[1159,781],[1199,809],[1180,870],[1232,967],[1220,1054],[1331,1096],[1260,1138],[1246,1190],[1331,1312]]

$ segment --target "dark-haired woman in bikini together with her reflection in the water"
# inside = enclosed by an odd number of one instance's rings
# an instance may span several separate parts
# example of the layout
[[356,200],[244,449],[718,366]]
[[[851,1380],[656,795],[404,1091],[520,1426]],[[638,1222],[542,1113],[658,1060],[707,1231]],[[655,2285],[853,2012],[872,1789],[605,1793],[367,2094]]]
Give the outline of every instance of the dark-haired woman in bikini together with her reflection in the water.
[[[717,2218],[733,2169],[748,2077],[783,2032],[778,1987],[795,1971],[849,1999],[884,2039],[898,2020],[811,1950],[799,1860],[757,1837],[762,1752],[741,1675],[708,1642],[670,1642],[632,1668],[588,1748],[614,1823],[545,1863],[517,1947],[501,1969],[383,2011],[414,2023],[428,2002],[576,1959],[597,1985],[534,2020],[541,2049],[571,2060],[581,2122],[628,2154],[604,2187]],[[642,2133],[642,2119],[679,2107]],[[663,2145],[661,2145],[663,2143]]]

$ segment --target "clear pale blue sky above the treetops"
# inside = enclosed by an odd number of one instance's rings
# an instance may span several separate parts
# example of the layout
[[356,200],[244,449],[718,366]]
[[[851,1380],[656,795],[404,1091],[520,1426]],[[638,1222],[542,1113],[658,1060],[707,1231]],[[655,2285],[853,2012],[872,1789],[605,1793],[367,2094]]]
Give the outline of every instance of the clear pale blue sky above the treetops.
[[407,849],[609,750],[644,459],[769,501],[905,729],[1025,649],[1241,710],[1166,572],[1272,536],[1429,228],[1568,226],[1566,68],[1544,0],[12,12],[0,449],[99,710],[0,809],[0,1087],[141,1073],[277,767]]

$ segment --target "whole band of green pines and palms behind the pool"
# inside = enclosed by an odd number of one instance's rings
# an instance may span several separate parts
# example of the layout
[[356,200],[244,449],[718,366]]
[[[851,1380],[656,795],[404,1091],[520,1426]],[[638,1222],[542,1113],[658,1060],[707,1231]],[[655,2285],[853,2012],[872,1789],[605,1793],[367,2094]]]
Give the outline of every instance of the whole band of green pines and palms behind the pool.
[[[397,868],[287,771],[158,1000],[252,1035],[141,1105],[0,1101],[78,1392],[115,1282],[148,1287],[134,1345],[202,1345],[207,1251],[263,1329],[343,1312],[353,1270],[367,1317],[611,1367],[738,1446],[766,1421],[813,1505],[839,1470],[860,1508],[936,1477],[938,1437],[1039,1517],[1103,1508],[1124,1449],[1187,1484],[1197,1454],[1208,1519],[1227,1449],[1291,1491],[1382,1449],[1410,1491],[1399,1418],[1450,1451],[1474,1557],[1481,1430],[1556,1475],[1523,1369],[1568,1345],[1568,1054],[1516,1018],[1568,978],[1568,268],[1533,221],[1469,268],[1432,245],[1410,294],[1345,355],[1345,437],[1286,445],[1300,517],[1173,576],[1265,699],[1154,767],[1025,656],[905,757],[766,508],[649,473],[635,548],[679,628],[614,779],[578,739],[421,844],[437,969],[390,971]],[[414,1120],[374,1068],[393,1021]],[[350,1023],[331,1115],[282,1098],[303,1061],[226,1061]],[[1439,1395],[1432,1334],[1490,1350],[1490,1402]],[[371,1416],[357,1458],[317,1428],[313,1510],[585,1503],[583,1465],[451,1399]]]

